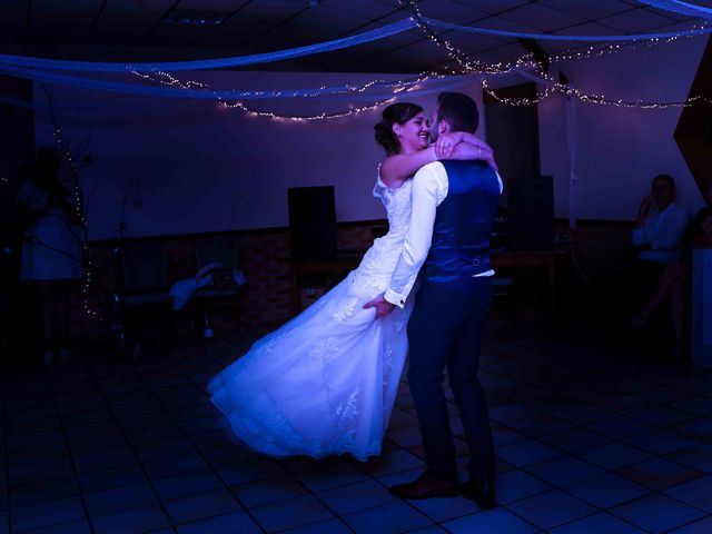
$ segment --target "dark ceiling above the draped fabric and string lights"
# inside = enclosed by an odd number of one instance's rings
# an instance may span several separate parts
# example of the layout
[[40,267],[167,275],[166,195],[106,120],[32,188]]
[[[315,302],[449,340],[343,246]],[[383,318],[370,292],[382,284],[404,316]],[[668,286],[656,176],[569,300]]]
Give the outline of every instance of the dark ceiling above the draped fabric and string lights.
[[[696,3],[706,7],[712,1]],[[421,0],[417,6],[433,19],[531,33],[631,34],[689,29],[700,22],[635,0]],[[397,0],[2,0],[0,48],[9,53],[111,61],[214,58],[312,44],[409,16]],[[513,60],[526,52],[516,39],[438,33],[483,61]],[[538,44],[552,53],[575,43]],[[419,72],[449,61],[415,28],[266,68]]]

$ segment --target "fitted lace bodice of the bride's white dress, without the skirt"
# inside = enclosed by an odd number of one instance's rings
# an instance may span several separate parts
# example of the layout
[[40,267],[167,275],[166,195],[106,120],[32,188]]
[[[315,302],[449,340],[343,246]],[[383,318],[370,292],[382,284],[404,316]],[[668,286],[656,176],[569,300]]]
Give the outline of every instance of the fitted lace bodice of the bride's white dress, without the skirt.
[[377,295],[388,287],[400,257],[411,222],[412,185],[413,180],[406,180],[399,188],[390,189],[378,178],[374,186],[374,197],[379,198],[386,208],[388,233],[374,240],[354,273],[353,284],[363,286],[368,294]]

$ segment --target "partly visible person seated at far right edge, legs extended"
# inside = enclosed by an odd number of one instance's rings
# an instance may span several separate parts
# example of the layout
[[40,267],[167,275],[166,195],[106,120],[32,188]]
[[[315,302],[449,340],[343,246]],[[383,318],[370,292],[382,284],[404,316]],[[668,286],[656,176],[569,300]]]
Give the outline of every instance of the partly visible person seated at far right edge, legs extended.
[[645,308],[635,316],[630,325],[634,329],[645,326],[660,305],[670,297],[670,316],[673,327],[673,357],[680,357],[683,350],[684,310],[688,301],[688,274],[692,265],[692,249],[712,246],[712,209],[702,208],[693,217],[682,239],[680,261],[670,264],[663,270],[655,293]]

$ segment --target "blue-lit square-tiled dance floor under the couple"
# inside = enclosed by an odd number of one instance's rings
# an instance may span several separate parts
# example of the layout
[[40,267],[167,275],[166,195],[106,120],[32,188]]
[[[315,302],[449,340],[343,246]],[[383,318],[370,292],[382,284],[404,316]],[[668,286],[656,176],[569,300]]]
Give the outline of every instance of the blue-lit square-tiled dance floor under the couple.
[[239,344],[6,373],[0,534],[712,532],[712,374],[702,369],[488,340],[482,380],[502,506],[482,512],[462,497],[387,492],[423,467],[405,384],[385,452],[368,464],[245,451],[204,392]]

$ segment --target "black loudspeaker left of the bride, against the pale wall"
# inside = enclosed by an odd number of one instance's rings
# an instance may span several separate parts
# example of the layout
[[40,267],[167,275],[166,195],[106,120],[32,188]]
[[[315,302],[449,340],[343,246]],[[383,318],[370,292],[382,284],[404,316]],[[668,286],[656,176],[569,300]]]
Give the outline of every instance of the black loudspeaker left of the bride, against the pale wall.
[[291,256],[295,259],[336,254],[334,198],[334,186],[287,189]]

